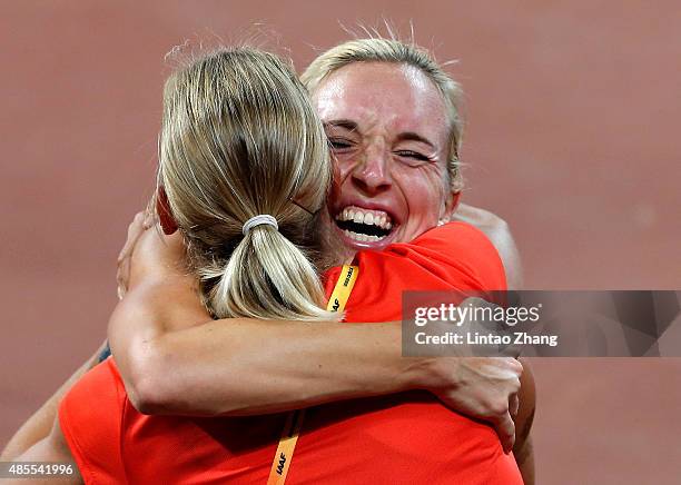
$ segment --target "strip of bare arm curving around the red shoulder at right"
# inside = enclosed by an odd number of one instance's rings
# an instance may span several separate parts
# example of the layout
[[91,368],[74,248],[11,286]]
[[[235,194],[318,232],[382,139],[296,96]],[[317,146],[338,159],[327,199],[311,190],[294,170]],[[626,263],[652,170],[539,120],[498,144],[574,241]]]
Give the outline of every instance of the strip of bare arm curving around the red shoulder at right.
[[482,230],[499,251],[506,271],[509,289],[522,289],[523,268],[520,253],[506,221],[487,210],[465,204],[458,205],[453,220],[468,222]]

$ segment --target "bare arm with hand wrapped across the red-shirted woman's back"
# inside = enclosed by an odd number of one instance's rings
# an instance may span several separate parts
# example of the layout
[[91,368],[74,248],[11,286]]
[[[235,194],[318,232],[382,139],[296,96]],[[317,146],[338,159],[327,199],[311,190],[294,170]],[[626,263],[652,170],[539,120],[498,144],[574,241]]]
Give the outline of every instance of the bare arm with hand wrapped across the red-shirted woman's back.
[[210,320],[193,278],[176,269],[179,236],[159,240],[156,231],[141,237],[130,289],[109,324],[138,409],[248,415],[424,388],[494,424],[510,449],[509,396],[522,372],[514,359],[403,358],[397,323]]

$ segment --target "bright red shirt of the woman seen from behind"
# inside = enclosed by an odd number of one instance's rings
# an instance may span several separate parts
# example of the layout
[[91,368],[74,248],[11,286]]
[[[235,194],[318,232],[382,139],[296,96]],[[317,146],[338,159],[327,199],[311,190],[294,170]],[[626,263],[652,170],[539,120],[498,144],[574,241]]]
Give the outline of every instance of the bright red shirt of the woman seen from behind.
[[[412,244],[357,256],[347,320],[399,319],[404,289],[505,289],[503,266],[477,229],[454,222]],[[330,294],[340,269],[327,275]],[[61,403],[61,429],[86,483],[267,482],[286,414],[145,416],[112,359]],[[308,409],[287,484],[522,484],[495,432],[425,392]]]

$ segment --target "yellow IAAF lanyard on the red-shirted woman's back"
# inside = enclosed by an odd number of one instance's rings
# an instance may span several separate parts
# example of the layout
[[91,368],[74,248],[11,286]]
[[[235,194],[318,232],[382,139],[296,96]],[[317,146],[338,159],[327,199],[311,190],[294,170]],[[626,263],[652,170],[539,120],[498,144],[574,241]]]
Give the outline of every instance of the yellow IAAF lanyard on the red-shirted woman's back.
[[[355,286],[358,273],[358,266],[343,266],[338,281],[336,281],[336,286],[334,287],[334,293],[332,293],[328,304],[326,305],[328,311],[343,311],[345,309],[345,304],[347,304],[351,293],[353,291],[353,286]],[[305,409],[293,410],[286,417],[284,430],[279,438],[279,446],[277,446],[274,461],[272,462],[272,468],[269,469],[267,485],[283,485],[286,482],[286,475],[288,474],[290,461],[296,449],[296,443],[304,417]]]

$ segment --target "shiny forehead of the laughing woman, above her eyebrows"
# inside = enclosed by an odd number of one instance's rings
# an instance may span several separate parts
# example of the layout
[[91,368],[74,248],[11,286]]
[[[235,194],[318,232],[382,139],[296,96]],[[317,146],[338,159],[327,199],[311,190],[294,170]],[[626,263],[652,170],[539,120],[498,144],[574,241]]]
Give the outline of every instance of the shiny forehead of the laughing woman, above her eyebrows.
[[329,75],[313,93],[323,121],[347,119],[361,130],[381,127],[446,137],[442,95],[420,69],[387,62],[353,62]]

